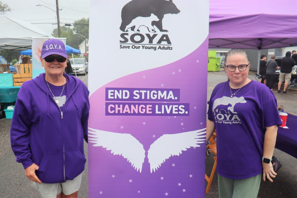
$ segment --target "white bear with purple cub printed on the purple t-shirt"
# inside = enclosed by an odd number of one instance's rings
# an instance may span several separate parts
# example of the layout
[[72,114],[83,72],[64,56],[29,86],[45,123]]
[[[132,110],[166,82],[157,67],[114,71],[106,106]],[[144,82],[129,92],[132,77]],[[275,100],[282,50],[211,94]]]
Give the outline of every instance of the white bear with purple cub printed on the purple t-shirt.
[[[233,114],[237,114],[237,112],[234,111],[234,106],[237,104],[237,103],[246,103],[247,101],[244,100],[244,97],[226,97],[226,96],[223,96],[221,98],[217,98],[213,101],[213,113],[215,112],[219,112],[221,111],[221,109],[226,109],[226,108],[223,108],[222,106],[228,106],[227,108],[227,111],[226,112],[229,112],[228,114],[230,114],[230,111],[231,113]],[[220,111],[218,110],[218,108],[220,109]]]

